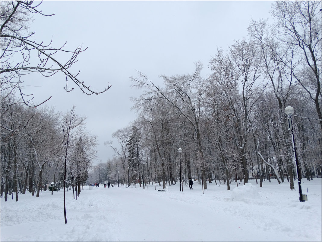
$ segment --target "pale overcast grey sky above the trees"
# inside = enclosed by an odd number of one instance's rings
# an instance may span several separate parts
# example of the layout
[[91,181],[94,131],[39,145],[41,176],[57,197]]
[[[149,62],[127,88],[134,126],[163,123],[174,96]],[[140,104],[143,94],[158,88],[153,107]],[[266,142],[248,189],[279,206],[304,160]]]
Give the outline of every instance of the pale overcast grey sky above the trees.
[[[202,61],[202,74],[217,48],[228,49],[233,40],[247,37],[251,18],[269,18],[273,1],[44,1],[39,10],[54,16],[35,15],[31,30],[37,40],[58,47],[67,41],[69,49],[88,49],[73,66],[80,80],[97,90],[109,82],[112,87],[100,95],[87,96],[73,83],[66,93],[63,75],[50,78],[24,76],[32,85],[36,101],[52,96],[46,103],[57,111],[87,116],[87,129],[98,136],[99,160],[113,156],[104,146],[112,133],[136,118],[131,112],[130,76],[137,71],[156,83],[160,75],[191,73],[194,62]],[[29,90],[30,87],[26,87]],[[116,145],[116,142],[113,141]],[[94,163],[97,163],[95,161]]]

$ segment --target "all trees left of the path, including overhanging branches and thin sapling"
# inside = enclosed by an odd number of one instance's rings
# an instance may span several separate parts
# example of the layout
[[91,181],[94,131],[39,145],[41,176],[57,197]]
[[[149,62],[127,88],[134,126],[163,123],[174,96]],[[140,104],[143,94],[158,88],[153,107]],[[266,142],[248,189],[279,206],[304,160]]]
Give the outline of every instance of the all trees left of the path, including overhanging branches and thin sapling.
[[[73,50],[53,46],[52,40],[37,40],[31,31],[35,15],[52,16],[39,10],[42,2],[1,1],[1,197],[16,195],[28,190],[39,196],[48,181],[63,184],[64,216],[65,186],[74,185],[77,196],[81,183],[88,177],[88,170],[95,158],[96,137],[85,130],[85,118],[75,112],[75,106],[61,116],[53,109],[40,108],[44,102],[34,101],[33,94],[25,93],[24,75],[36,73],[40,77],[62,74],[66,92],[74,88],[84,94],[101,94],[82,81],[71,67],[86,50],[81,45]],[[38,76],[38,78],[39,78]],[[35,78],[37,78],[35,76]],[[19,96],[19,98],[17,98]],[[31,108],[33,107],[33,108]],[[38,107],[38,108],[36,108]]]

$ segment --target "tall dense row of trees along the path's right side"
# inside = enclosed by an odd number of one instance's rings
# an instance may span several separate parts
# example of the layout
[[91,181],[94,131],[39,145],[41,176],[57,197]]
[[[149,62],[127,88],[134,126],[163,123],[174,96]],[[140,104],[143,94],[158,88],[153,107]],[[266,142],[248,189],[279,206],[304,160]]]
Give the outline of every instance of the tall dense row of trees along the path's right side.
[[[302,174],[321,175],[321,2],[278,1],[268,20],[252,21],[249,38],[219,49],[211,58],[211,74],[201,76],[195,63],[190,74],[160,76],[159,87],[144,73],[131,77],[144,94],[133,98],[139,117],[113,134],[122,173],[141,186],[158,177],[163,187],[179,180],[182,148],[185,178],[232,179],[244,184],[254,177],[260,186],[270,175],[294,189],[296,167],[286,106],[293,106],[293,125]],[[115,161],[113,161],[114,163]],[[155,174],[155,175],[154,175]],[[185,175],[186,174],[186,175]]]

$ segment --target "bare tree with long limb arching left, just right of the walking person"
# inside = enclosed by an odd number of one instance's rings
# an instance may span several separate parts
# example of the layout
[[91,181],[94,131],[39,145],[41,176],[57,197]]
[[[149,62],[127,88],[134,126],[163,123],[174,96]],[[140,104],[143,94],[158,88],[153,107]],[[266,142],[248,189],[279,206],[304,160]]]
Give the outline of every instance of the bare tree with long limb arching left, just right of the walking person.
[[161,76],[166,85],[166,90],[157,87],[146,75],[139,72],[138,77],[131,77],[133,86],[145,90],[139,99],[142,102],[148,102],[154,98],[165,99],[178,112],[185,117],[185,121],[189,122],[195,132],[196,142],[198,144],[198,152],[200,154],[201,168],[204,179],[204,189],[207,189],[206,182],[206,168],[207,164],[204,161],[202,138],[200,134],[199,121],[203,112],[200,105],[202,100],[202,77],[200,71],[202,70],[202,63],[195,63],[194,72],[191,74],[176,75],[176,76]]

